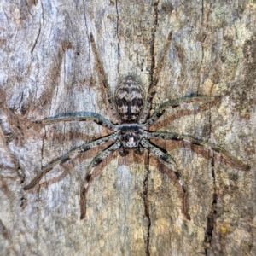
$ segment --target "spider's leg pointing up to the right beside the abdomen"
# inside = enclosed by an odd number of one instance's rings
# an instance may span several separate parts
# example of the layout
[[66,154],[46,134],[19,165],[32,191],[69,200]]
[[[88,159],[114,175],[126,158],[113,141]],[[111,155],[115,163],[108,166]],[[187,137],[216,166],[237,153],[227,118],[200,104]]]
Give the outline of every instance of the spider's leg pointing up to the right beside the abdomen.
[[152,100],[153,100],[153,97],[156,94],[156,90],[157,90],[158,74],[160,73],[160,70],[163,67],[163,64],[164,64],[164,61],[165,61],[165,58],[166,58],[166,55],[167,55],[167,50],[170,48],[171,40],[172,40],[172,32],[170,32],[169,35],[168,35],[166,45],[165,45],[164,49],[161,52],[160,60],[158,61],[157,66],[154,68],[154,61],[153,61],[153,64],[151,65],[150,75],[152,77],[151,77],[151,80],[149,82],[147,101],[145,103],[143,113],[142,113],[142,115],[140,117],[140,120],[139,120],[140,124],[142,124],[146,121],[148,113],[151,109]]

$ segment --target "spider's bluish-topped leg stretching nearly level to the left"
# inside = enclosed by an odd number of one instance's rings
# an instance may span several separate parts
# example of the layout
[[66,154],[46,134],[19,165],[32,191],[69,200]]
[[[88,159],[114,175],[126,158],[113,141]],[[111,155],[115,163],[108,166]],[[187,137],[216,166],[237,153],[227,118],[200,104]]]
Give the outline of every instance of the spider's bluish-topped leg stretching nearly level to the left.
[[55,116],[49,117],[48,119],[36,120],[35,123],[48,125],[67,121],[93,121],[97,125],[102,125],[109,130],[113,131],[114,128],[114,125],[110,120],[105,119],[101,114],[94,112],[59,113]]

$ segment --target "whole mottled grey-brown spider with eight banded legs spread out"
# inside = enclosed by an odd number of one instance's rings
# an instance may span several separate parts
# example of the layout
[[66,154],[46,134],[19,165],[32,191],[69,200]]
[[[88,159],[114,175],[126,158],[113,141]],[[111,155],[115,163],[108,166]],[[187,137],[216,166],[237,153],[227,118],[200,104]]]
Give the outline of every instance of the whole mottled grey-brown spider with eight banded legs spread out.
[[[165,47],[162,50],[160,61],[157,67],[151,65],[151,79],[149,81],[149,89],[147,98],[145,96],[145,91],[143,89],[143,83],[139,77],[136,75],[127,75],[119,80],[119,84],[114,92],[114,100],[111,94],[104,69],[102,67],[102,62],[100,61],[96,44],[92,34],[90,33],[90,43],[93,49],[97,70],[100,78],[102,79],[101,86],[105,90],[108,98],[108,104],[113,113],[115,119],[115,124],[109,119],[105,119],[102,115],[98,113],[90,112],[79,112],[79,113],[60,113],[54,117],[49,117],[48,119],[43,119],[36,121],[40,124],[53,124],[60,121],[89,121],[92,120],[98,125],[113,131],[111,135],[106,137],[100,137],[96,140],[90,141],[89,143],[84,143],[77,148],[73,148],[66,154],[61,155],[55,160],[49,162],[47,166],[44,166],[41,172],[32,180],[31,183],[26,185],[24,189],[32,189],[44,176],[45,173],[49,172],[56,164],[61,164],[70,160],[76,154],[85,152],[91,148],[96,148],[99,145],[107,142],[113,142],[108,148],[105,148],[100,154],[91,160],[90,165],[86,169],[86,174],[84,181],[81,184],[80,189],[80,207],[81,207],[81,219],[85,217],[86,212],[86,198],[85,195],[90,187],[90,183],[96,176],[95,167],[106,159],[108,155],[112,154],[116,149],[119,148],[119,154],[125,156],[129,153],[129,149],[135,148],[137,154],[143,154],[143,149],[147,148],[157,157],[162,160],[166,166],[171,167],[170,172],[175,173],[179,185],[182,187],[182,198],[183,201],[183,214],[185,218],[189,219],[189,212],[187,207],[187,189],[177,171],[177,165],[172,156],[166,152],[165,149],[160,148],[154,143],[150,142],[152,138],[164,138],[166,140],[176,140],[176,141],[187,141],[198,146],[209,148],[210,150],[216,151],[219,154],[224,155],[228,160],[233,162],[236,166],[243,170],[248,170],[249,166],[237,160],[234,156],[230,155],[223,148],[219,147],[213,143],[207,143],[195,137],[188,135],[178,134],[176,132],[164,132],[164,131],[148,131],[150,125],[154,123],[160,116],[165,112],[166,108],[174,108],[180,105],[182,102],[214,102],[217,97],[215,96],[184,96],[182,98],[167,101],[160,105],[159,108],[154,110],[154,113],[149,116],[150,110],[152,108],[152,100],[156,93],[158,73],[166,56],[167,49],[170,46],[172,40],[172,32],[170,32]],[[105,97],[105,95],[104,95]]]

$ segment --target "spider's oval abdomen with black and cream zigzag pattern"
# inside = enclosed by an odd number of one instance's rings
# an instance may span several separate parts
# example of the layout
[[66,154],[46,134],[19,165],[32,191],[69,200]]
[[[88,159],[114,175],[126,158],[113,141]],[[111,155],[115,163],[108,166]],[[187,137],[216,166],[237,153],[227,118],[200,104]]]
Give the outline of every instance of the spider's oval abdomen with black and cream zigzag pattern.
[[122,122],[136,122],[143,111],[145,101],[142,81],[137,76],[125,76],[119,81],[114,96]]

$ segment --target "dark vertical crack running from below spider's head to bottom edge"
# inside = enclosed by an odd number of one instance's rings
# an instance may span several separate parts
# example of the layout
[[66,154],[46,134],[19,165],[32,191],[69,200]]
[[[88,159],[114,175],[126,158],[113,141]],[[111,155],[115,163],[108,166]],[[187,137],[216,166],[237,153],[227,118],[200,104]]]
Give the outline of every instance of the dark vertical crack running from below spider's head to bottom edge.
[[145,240],[145,251],[146,256],[150,256],[149,253],[149,240],[150,240],[150,227],[151,227],[151,219],[149,214],[149,207],[148,207],[148,177],[149,177],[149,151],[147,155],[147,162],[145,163],[146,166],[146,176],[143,180],[143,201],[144,201],[144,209],[145,209],[145,217],[147,218],[148,225],[147,225],[147,237]]

